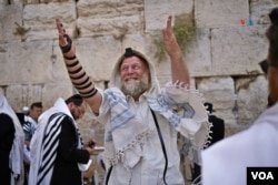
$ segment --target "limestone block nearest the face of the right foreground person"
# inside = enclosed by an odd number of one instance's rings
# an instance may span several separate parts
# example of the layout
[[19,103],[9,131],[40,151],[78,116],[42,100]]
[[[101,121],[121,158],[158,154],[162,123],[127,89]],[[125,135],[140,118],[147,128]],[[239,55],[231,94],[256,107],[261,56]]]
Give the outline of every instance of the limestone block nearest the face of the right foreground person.
[[267,107],[268,83],[264,75],[254,79],[239,79],[238,124],[251,124]]

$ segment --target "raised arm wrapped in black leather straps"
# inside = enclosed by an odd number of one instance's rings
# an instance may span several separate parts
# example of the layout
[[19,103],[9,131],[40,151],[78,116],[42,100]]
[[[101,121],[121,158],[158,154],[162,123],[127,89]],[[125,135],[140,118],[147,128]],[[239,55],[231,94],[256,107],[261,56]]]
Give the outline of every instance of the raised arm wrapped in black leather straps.
[[76,48],[71,42],[70,37],[66,33],[62,23],[56,19],[56,25],[59,33],[59,44],[63,54],[64,64],[67,66],[71,83],[78,90],[80,95],[89,104],[92,112],[99,113],[99,106],[102,97],[98,90],[95,88],[93,81],[86,73],[85,69],[78,61],[76,55]]

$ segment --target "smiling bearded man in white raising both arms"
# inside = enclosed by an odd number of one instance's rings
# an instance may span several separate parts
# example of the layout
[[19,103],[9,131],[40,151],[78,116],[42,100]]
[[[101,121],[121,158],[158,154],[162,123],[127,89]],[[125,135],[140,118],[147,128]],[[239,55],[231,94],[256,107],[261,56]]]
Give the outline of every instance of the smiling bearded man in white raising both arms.
[[189,89],[189,72],[171,29],[171,17],[162,33],[172,83],[162,90],[153,64],[131,48],[117,61],[111,88],[96,89],[59,19],[57,29],[71,82],[92,116],[106,127],[106,184],[185,184],[179,169],[177,132],[198,151],[206,145],[209,124],[199,94]]

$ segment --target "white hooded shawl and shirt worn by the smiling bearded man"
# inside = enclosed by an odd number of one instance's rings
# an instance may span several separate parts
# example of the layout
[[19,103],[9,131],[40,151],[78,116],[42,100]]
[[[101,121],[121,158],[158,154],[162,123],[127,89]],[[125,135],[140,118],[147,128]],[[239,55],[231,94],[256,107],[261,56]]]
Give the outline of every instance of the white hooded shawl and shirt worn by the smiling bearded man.
[[[137,54],[149,65],[150,89],[140,95],[138,102],[122,94],[119,90],[121,88],[119,66],[125,58],[122,55],[111,74],[110,85],[113,88],[105,92],[99,90],[102,94],[99,115],[92,113],[93,119],[106,125],[103,161],[107,168],[113,166],[109,185],[163,183],[166,158],[150,109],[156,112],[166,147],[168,158],[166,182],[183,184],[179,168],[177,131],[190,138],[193,150],[199,151],[203,147],[210,130],[206,107],[195,90],[169,84],[160,91],[153,64],[142,54]],[[181,111],[183,114],[178,115],[176,111]]]

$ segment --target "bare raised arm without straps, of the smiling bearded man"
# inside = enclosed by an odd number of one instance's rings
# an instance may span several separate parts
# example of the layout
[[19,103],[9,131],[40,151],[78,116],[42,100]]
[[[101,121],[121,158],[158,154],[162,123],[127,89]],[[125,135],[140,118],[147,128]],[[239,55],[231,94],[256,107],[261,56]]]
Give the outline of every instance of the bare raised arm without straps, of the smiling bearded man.
[[190,81],[189,71],[185,62],[180,47],[177,42],[176,35],[173,34],[171,28],[171,21],[172,18],[171,16],[169,16],[167,20],[167,25],[162,30],[162,34],[165,41],[165,49],[168,55],[170,56],[171,61],[172,82],[180,81],[183,82],[185,84],[188,84],[189,86],[189,81]]

